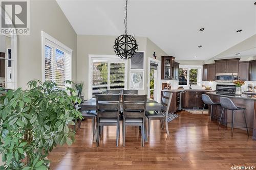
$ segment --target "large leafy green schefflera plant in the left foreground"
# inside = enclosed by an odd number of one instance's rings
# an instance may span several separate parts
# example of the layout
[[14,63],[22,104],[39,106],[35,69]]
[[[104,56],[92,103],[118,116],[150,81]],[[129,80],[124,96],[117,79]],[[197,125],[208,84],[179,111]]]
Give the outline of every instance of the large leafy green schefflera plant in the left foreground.
[[0,89],[0,169],[49,169],[49,152],[75,140],[73,120],[82,117],[73,102],[80,100],[66,92],[74,90],[56,89],[49,81],[28,85],[29,90]]

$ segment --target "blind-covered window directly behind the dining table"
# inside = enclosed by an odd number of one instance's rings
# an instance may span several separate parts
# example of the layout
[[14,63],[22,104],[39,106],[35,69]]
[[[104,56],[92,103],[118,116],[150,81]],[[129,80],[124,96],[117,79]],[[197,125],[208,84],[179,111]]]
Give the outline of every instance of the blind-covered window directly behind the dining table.
[[[96,94],[105,94],[106,89],[126,89],[126,61],[115,58],[92,58],[91,87],[89,92],[95,98]],[[90,70],[89,70],[90,72]]]

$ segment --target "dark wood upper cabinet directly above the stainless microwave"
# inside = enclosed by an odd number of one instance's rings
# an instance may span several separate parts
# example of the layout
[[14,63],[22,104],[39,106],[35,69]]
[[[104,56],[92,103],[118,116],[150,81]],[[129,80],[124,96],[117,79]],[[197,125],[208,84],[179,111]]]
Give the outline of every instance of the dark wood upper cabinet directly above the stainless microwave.
[[215,72],[218,73],[232,73],[238,72],[240,58],[215,60]]

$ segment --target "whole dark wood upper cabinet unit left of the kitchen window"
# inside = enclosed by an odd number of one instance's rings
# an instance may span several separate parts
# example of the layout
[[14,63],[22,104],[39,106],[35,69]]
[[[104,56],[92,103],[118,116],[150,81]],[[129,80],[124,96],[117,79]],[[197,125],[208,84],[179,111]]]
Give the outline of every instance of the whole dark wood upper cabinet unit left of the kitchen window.
[[162,56],[162,80],[178,80],[179,63],[173,56]]

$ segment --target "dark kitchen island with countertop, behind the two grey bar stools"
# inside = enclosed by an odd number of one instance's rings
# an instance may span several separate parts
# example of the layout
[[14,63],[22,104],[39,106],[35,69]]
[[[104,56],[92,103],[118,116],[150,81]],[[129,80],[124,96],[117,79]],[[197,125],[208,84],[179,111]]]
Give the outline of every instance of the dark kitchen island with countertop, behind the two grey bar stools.
[[[232,102],[238,106],[246,108],[245,115],[247,120],[247,125],[249,128],[249,134],[252,135],[252,139],[256,140],[256,95],[253,94],[242,94],[241,96],[231,96],[231,95],[223,95],[216,92],[206,92],[214,102],[220,102],[220,97],[226,97],[232,100]],[[213,114],[216,116],[221,115],[222,107],[215,108]],[[222,122],[231,122],[231,111],[227,111],[228,114],[224,114]],[[237,111],[240,112],[240,111]],[[234,120],[234,128],[245,127],[243,114],[236,114]],[[230,127],[230,125],[228,125]],[[234,131],[236,132],[236,130]]]

